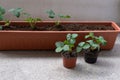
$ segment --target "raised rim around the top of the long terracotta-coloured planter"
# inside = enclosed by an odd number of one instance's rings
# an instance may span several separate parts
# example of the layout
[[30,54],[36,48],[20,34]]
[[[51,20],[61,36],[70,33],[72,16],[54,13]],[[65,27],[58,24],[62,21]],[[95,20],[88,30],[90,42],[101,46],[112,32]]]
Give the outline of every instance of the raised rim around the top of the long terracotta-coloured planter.
[[[0,23],[4,23],[5,21],[0,21]],[[11,23],[28,23],[27,21],[11,21]],[[38,21],[37,23],[55,23],[55,21]],[[91,23],[91,24],[111,24],[111,26],[115,29],[115,30],[88,30],[88,31],[22,31],[22,30],[1,30],[0,32],[33,32],[33,33],[79,33],[79,32],[120,32],[120,27],[113,21],[61,21],[61,23]],[[115,27],[114,27],[114,26]]]

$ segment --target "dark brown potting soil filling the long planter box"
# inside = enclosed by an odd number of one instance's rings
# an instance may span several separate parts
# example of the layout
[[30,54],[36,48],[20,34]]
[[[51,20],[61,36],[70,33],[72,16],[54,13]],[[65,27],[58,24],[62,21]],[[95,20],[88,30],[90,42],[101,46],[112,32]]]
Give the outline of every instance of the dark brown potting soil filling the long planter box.
[[58,26],[4,26],[3,30],[22,30],[22,31],[88,31],[88,30],[114,30],[110,25],[85,25],[85,24],[64,24]]

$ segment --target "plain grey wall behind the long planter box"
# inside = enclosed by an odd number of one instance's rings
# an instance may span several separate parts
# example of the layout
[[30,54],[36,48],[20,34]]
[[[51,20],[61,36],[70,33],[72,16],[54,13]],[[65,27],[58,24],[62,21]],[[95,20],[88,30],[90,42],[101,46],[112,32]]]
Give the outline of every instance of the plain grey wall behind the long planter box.
[[[35,17],[48,20],[46,10],[69,14],[70,20],[115,21],[120,23],[120,0],[0,0],[7,10],[21,7]],[[17,20],[6,14],[6,18]]]

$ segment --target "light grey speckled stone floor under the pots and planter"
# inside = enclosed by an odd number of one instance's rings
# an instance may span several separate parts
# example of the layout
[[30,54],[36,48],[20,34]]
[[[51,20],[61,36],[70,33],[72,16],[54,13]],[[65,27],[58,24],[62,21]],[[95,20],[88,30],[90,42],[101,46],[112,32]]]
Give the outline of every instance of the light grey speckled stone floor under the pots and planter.
[[74,69],[62,65],[54,51],[0,51],[0,80],[120,80],[120,34],[95,64],[77,59]]

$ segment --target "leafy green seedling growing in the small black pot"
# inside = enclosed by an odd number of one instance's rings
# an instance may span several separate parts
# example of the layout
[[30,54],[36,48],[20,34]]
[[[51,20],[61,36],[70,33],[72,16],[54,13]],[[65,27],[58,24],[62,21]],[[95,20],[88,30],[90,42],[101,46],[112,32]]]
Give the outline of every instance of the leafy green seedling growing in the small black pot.
[[77,46],[77,52],[80,52],[82,50],[100,50],[101,45],[105,46],[107,44],[107,41],[102,36],[95,36],[94,33],[89,33],[89,35],[85,36],[85,39],[88,39],[85,42],[80,42]]

